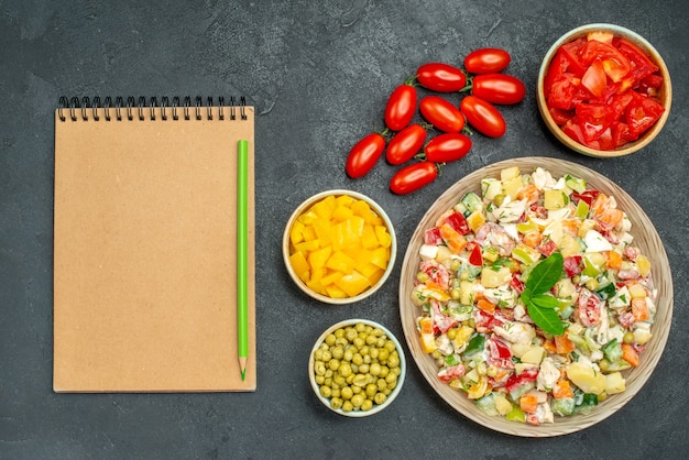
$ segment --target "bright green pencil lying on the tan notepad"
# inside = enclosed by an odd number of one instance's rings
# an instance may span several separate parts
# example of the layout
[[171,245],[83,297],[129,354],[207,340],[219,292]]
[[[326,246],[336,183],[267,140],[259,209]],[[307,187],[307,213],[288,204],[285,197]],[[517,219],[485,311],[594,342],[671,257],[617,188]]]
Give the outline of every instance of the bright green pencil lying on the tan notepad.
[[249,357],[249,286],[248,286],[248,195],[249,142],[237,143],[237,346],[239,369],[244,380]]

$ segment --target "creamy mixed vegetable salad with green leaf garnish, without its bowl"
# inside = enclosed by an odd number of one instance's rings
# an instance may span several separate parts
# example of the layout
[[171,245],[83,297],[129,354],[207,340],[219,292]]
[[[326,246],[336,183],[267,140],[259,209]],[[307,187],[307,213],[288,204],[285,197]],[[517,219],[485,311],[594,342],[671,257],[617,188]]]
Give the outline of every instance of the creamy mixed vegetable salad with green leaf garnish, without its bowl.
[[613,196],[543,168],[481,180],[424,234],[411,293],[438,379],[532,425],[625,390],[657,291]]

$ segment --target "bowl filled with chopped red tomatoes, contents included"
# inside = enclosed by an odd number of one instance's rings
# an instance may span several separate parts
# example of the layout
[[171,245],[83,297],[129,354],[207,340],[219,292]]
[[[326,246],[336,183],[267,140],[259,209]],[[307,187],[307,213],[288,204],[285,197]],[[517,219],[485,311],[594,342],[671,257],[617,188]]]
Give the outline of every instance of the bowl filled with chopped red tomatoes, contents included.
[[614,24],[588,24],[557,40],[538,73],[540,114],[568,147],[616,157],[648,145],[667,121],[670,76],[643,36]]

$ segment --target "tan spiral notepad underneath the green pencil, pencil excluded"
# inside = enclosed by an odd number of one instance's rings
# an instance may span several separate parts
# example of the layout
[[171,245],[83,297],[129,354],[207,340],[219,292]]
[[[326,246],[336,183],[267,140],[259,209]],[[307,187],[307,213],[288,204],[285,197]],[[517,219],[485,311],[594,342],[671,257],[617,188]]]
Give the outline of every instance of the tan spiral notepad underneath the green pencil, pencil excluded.
[[[254,109],[61,100],[55,392],[254,391]],[[249,360],[237,344],[237,143],[249,141]]]

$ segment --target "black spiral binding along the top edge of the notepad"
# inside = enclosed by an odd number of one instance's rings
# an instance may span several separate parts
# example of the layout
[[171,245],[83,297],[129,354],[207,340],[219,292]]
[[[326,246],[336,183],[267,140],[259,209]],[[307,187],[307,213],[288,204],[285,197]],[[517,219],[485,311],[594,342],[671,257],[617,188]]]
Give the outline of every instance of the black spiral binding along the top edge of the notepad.
[[[238,108],[240,119],[247,120],[247,99],[242,96],[239,99],[239,103],[236,103],[234,97],[230,97],[229,102],[229,105],[226,105],[222,96],[218,97],[217,105],[214,103],[212,97],[208,97],[206,105],[204,105],[204,98],[200,96],[196,97],[194,105],[189,96],[184,97],[184,99],[175,96],[172,98],[172,103],[169,98],[164,96],[161,98],[160,105],[156,97],[146,99],[144,96],[139,97],[138,100],[133,96],[130,96],[127,98],[127,101],[124,101],[124,98],[121,96],[118,96],[114,98],[114,103],[109,96],[106,97],[102,103],[98,96],[94,97],[92,100],[88,96],[81,99],[78,97],[67,98],[66,96],[62,96],[57,107],[57,116],[61,121],[77,121],[79,119],[83,121],[100,121],[101,117],[98,109],[102,109],[106,121],[111,121],[113,114],[117,121],[132,121],[134,118],[144,121],[146,119],[145,112],[147,109],[149,119],[154,121],[156,118],[155,109],[158,108],[163,121],[167,121],[169,118],[179,120],[181,116],[184,120],[192,120],[192,118],[201,120],[204,112],[206,112],[206,120],[212,120],[212,108],[218,107],[218,118],[220,120],[226,119],[226,108],[229,109],[229,120],[237,120]],[[204,108],[206,110],[204,110]]]

